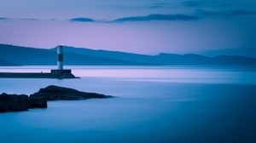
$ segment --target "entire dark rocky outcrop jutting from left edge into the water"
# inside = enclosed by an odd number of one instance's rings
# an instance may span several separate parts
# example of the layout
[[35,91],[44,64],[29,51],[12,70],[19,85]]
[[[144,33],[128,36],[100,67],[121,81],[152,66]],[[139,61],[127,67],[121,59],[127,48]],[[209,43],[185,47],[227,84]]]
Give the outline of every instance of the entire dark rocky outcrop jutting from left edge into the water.
[[32,108],[47,108],[47,100],[87,100],[111,98],[111,95],[82,92],[50,85],[31,94],[0,94],[0,112],[22,112]]

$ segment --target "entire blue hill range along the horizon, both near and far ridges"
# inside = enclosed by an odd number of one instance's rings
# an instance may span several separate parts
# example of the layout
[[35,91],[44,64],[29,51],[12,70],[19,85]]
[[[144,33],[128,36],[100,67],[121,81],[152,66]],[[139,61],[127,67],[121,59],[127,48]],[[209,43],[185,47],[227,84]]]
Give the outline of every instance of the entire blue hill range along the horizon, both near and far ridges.
[[[119,51],[64,48],[65,65],[73,66],[212,66],[256,65],[256,58],[234,55],[209,57],[201,54],[133,54]],[[0,59],[21,66],[56,65],[56,49],[34,49],[0,44]],[[1,64],[0,60],[0,64]],[[0,65],[1,66],[1,65]]]

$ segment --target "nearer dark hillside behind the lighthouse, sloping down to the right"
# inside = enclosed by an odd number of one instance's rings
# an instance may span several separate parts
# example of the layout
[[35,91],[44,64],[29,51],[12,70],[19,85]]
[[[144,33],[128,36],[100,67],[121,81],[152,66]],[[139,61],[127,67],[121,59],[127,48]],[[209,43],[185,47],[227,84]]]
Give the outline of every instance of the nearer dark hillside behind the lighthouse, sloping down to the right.
[[[66,49],[65,49],[66,50]],[[34,49],[13,45],[0,44],[0,57],[3,60],[21,66],[53,66],[56,65],[56,52],[50,49]],[[65,51],[65,65],[74,66],[140,66],[148,63],[116,60],[85,54],[68,53]]]

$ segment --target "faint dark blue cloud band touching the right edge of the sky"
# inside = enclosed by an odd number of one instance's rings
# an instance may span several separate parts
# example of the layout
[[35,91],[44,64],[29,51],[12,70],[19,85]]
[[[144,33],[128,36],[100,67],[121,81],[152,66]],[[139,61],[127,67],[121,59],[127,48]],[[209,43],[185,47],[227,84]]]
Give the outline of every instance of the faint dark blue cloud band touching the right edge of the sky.
[[212,16],[212,17],[234,17],[240,15],[247,15],[247,14],[256,14],[256,11],[248,11],[243,9],[235,9],[235,10],[227,10],[222,12],[213,12],[203,9],[196,9],[196,14],[200,14],[202,16]]

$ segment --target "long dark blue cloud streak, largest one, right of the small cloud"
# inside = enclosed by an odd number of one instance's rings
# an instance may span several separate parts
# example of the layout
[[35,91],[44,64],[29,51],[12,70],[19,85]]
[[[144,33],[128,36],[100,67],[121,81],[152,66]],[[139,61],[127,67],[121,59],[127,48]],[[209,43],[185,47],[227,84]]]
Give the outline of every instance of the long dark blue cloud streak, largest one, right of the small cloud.
[[135,16],[119,18],[117,22],[125,21],[149,21],[149,20],[198,20],[199,17],[188,14],[149,14],[147,16]]

